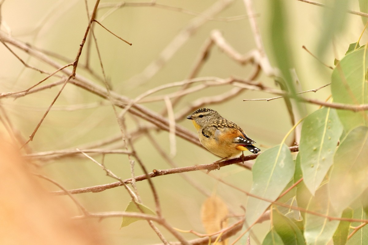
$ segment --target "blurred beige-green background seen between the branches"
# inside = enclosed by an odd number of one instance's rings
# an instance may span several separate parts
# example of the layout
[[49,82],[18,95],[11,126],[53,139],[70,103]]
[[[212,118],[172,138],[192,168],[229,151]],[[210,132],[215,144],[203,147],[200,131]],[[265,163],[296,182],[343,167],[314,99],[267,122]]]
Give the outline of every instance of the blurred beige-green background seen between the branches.
[[[131,2],[138,3],[139,1]],[[272,53],[269,47],[269,1],[258,0],[253,2],[257,15],[256,21],[261,31],[265,50],[272,61]],[[100,6],[107,3],[120,3],[120,1],[101,1]],[[204,0],[157,1],[157,3],[202,12],[214,2]],[[94,4],[94,1],[88,0],[90,11]],[[302,46],[305,45],[312,53],[315,53],[324,25],[323,8],[296,0],[284,1],[284,4],[287,6],[287,27],[289,28],[291,44],[290,53],[286,55],[292,56],[302,90],[315,89],[329,83],[331,70],[322,67],[319,61],[302,49]],[[351,4],[350,9],[358,10],[358,4]],[[110,10],[109,7],[100,8],[96,19],[100,21]],[[100,22],[116,35],[131,42],[132,46],[117,39],[99,25],[95,24],[93,30],[98,40],[107,79],[112,84],[113,90],[129,98],[135,98],[159,85],[186,79],[201,47],[213,29],[220,30],[227,42],[239,53],[245,54],[254,49],[256,47],[254,35],[249,20],[245,16],[246,10],[243,1],[233,1],[229,7],[221,11],[216,17],[227,18],[242,15],[244,15],[244,18],[234,21],[221,21],[219,19],[207,21],[178,49],[162,69],[145,81],[139,79],[139,74],[158,57],[162,50],[172,42],[173,38],[196,16],[146,6],[125,6],[108,16],[105,15],[106,18],[103,18]],[[88,24],[85,4],[82,0],[5,0],[1,6],[1,18],[1,31],[8,32],[14,38],[42,50],[49,50],[63,55],[70,61],[74,60],[77,54]],[[346,26],[342,34],[336,36],[335,46],[329,46],[326,50],[324,62],[332,66],[334,58],[341,58],[347,50],[348,44],[357,41],[362,28],[362,21],[359,16],[347,15]],[[365,36],[363,36],[361,44],[365,40]],[[29,57],[23,51],[12,46],[10,48],[27,64],[49,72],[54,71],[54,68]],[[102,76],[93,42],[91,50],[90,67],[95,73]],[[85,54],[86,50],[84,49],[79,61],[81,65],[85,64]],[[45,78],[45,75],[25,68],[2,44],[0,44],[0,59],[1,93],[26,89]],[[56,60],[60,64],[67,64],[62,60]],[[227,57],[226,54],[220,52],[217,47],[214,47],[198,76],[247,78],[251,71],[250,65],[239,65]],[[77,73],[104,86],[103,83],[81,67],[77,69]],[[51,78],[45,84],[56,80],[57,78]],[[257,82],[277,88],[273,80],[264,74],[259,76]],[[2,98],[0,100],[14,128],[19,131],[24,139],[27,139],[32,133],[59,89],[60,86],[57,86],[16,100],[13,98]],[[174,112],[179,112],[198,98],[221,94],[224,90],[230,89],[230,85],[215,86],[192,93],[181,99],[180,103],[174,108]],[[157,94],[173,91],[176,91],[176,88],[160,91]],[[306,96],[325,100],[329,94],[329,88],[327,87],[317,93],[306,94]],[[284,102],[281,99],[269,102],[243,102],[243,99],[271,97],[274,97],[274,95],[264,92],[244,91],[239,96],[224,103],[206,107],[215,109],[222,116],[236,122],[250,137],[257,141],[261,149],[266,149],[279,144],[291,127]],[[103,104],[96,105],[96,102],[103,102]],[[155,112],[161,112],[165,108],[164,101],[150,102],[143,105]],[[315,108],[315,106],[307,105],[309,112]],[[126,119],[128,130],[137,127],[131,116],[128,115]],[[144,124],[144,122],[142,123]],[[177,123],[193,132],[195,131],[188,120]],[[0,128],[1,132],[7,135],[2,125]],[[67,84],[52,111],[47,115],[35,138],[28,146],[33,152],[73,148],[118,135],[119,131],[113,109],[107,101],[72,84]],[[152,131],[152,135],[169,154],[169,134],[166,131]],[[146,137],[139,138],[135,142],[135,148],[150,171],[152,169],[171,168]],[[101,161],[101,156],[95,156],[95,159]],[[216,156],[210,154],[210,152],[177,138],[177,154],[173,157],[173,161],[177,165],[190,166],[211,163],[215,160],[217,160]],[[62,158],[51,162],[41,162],[40,164],[44,165],[41,171],[45,175],[57,180],[68,189],[116,181],[107,177],[99,166],[85,158]],[[130,166],[126,155],[107,155],[105,164],[107,168],[122,179],[130,177]],[[136,175],[142,174],[138,166],[135,169]],[[245,190],[250,188],[251,172],[238,166],[227,166],[211,173]],[[226,200],[231,212],[243,214],[240,206],[245,205],[247,198],[244,194],[218,183],[205,173],[191,172],[189,175],[197,179],[197,183],[202,185],[208,192],[216,192],[223,200]],[[183,230],[192,229],[202,233],[205,232],[200,219],[201,204],[206,198],[203,194],[177,174],[157,177],[153,179],[153,183],[158,189],[163,215],[170,224]],[[57,187],[46,184],[50,190],[58,190]],[[154,202],[146,181],[137,183],[137,186],[145,205],[154,209]],[[75,209],[77,215],[78,212],[73,203],[67,197],[62,198],[70,202],[70,206]],[[130,201],[130,197],[123,187],[99,193],[78,194],[77,198],[91,212],[124,210]],[[110,240],[110,244],[154,244],[160,242],[145,221],[139,221],[122,229],[120,229],[120,223],[121,218],[109,218],[98,222],[100,230]],[[164,228],[159,228],[169,240],[174,239]],[[262,234],[265,234],[263,229],[268,229],[267,223],[254,227],[254,232],[259,234],[260,241],[263,239]],[[184,237],[188,239],[195,238],[191,234],[184,234]]]

